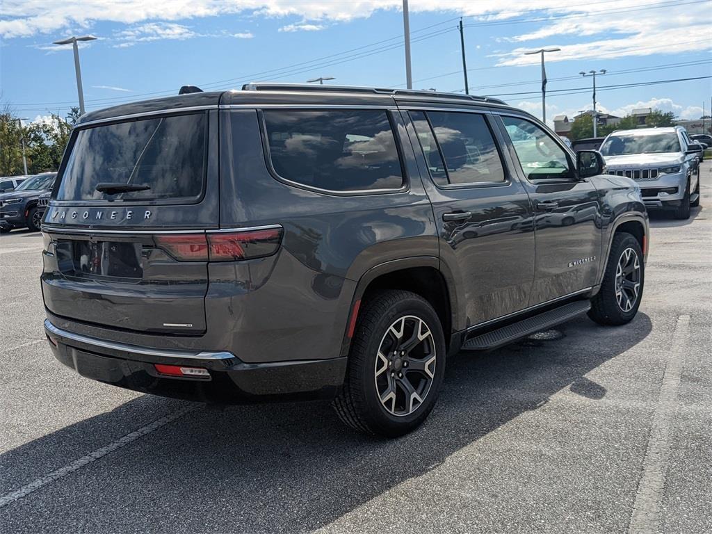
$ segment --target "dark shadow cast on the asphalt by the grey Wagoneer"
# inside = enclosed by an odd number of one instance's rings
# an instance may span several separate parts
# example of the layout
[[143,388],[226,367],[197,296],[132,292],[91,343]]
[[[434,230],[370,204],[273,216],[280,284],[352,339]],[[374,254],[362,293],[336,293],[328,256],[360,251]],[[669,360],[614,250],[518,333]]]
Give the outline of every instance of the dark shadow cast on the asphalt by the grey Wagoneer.
[[[602,399],[606,390],[585,375],[644,340],[651,320],[639,313],[629,325],[605,328],[584,317],[557,330],[563,334],[558,340],[455,357],[431,416],[401,439],[352,432],[325,402],[201,407],[0,509],[0,530],[3,524],[28,532],[95,534],[296,533],[323,527],[431,471],[520,414],[540,409],[562,389],[587,402]],[[169,402],[175,401],[140,397],[9,451],[0,456],[0,466],[11,471],[41,459],[44,442],[59,441],[61,449],[50,449],[58,455],[56,469],[104,446],[89,445],[83,436],[118,422],[125,426],[122,418],[136,403],[164,412]]]

